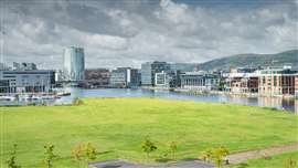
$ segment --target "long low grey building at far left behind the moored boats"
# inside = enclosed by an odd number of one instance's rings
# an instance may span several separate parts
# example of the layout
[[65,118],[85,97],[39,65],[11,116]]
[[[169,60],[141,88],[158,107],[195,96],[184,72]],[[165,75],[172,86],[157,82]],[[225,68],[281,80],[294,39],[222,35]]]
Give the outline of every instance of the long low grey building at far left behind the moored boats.
[[1,93],[50,92],[55,84],[55,72],[35,71],[0,71]]

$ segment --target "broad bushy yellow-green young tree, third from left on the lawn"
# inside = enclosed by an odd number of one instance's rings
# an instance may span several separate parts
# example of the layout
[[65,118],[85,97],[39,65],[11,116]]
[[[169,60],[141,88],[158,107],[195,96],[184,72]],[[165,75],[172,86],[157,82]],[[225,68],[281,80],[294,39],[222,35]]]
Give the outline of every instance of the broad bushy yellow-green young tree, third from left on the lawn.
[[73,158],[78,162],[87,162],[96,159],[96,148],[91,143],[81,143],[72,151]]

